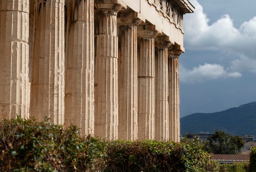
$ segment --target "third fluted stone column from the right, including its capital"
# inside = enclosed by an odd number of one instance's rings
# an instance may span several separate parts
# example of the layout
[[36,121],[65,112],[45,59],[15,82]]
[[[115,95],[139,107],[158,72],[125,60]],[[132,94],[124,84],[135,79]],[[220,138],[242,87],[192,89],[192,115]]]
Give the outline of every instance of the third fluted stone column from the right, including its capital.
[[155,25],[138,26],[138,139],[154,139]]

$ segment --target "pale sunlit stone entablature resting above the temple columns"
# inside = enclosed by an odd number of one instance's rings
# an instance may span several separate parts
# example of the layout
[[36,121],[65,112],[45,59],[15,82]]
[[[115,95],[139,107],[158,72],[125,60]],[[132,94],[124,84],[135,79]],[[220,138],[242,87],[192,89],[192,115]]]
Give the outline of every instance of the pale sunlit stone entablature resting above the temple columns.
[[[141,24],[155,25],[157,32],[183,48],[183,15],[195,8],[189,0],[110,0],[125,4],[123,10],[137,13]],[[122,11],[122,10],[121,10]]]

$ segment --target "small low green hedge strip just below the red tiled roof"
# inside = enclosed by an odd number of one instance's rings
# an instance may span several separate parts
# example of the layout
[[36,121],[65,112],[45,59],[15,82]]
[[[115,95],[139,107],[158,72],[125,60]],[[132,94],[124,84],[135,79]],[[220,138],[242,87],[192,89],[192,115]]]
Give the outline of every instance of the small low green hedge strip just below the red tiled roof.
[[224,163],[220,164],[219,172],[249,172],[249,163]]

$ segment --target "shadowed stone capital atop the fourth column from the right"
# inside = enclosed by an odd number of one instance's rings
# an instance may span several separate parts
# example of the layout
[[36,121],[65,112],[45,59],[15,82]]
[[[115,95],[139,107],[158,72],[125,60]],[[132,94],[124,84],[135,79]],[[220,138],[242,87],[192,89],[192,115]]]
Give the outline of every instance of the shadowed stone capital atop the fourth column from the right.
[[138,17],[137,12],[124,12],[120,11],[117,14],[117,25],[118,26],[139,26],[142,21]]

